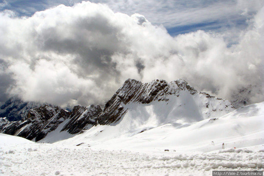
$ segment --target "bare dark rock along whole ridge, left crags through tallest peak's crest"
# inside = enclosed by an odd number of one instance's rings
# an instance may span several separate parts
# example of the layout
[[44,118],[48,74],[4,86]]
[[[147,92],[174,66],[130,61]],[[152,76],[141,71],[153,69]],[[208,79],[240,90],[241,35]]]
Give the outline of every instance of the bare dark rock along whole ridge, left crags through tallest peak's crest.
[[[14,104],[14,102],[11,99],[3,107],[1,106],[2,111],[0,112],[3,112],[2,114],[5,114],[5,116],[0,116],[3,117],[0,118],[0,133],[20,136],[33,141],[40,141],[48,133],[55,130],[58,133],[77,134],[92,126],[118,123],[129,110],[128,104],[148,105],[154,101],[167,102],[168,104],[172,101],[170,99],[178,98],[180,101],[183,93],[194,99],[199,99],[199,106],[207,110],[206,113],[201,114],[204,119],[210,118],[210,114],[214,115],[216,112],[227,114],[234,110],[229,101],[218,99],[207,93],[198,93],[183,79],[169,83],[158,79],[150,83],[127,79],[111,99],[106,102],[104,110],[99,105],[89,105],[87,107],[77,105],[69,112],[59,106],[30,103],[33,106],[27,111],[27,108],[23,109],[26,106],[25,102],[19,101],[20,104],[23,104],[22,107],[19,105],[17,98],[15,99],[17,106],[12,109],[12,103]],[[195,100],[195,102],[198,101]],[[217,108],[216,103],[218,104]],[[23,111],[18,110],[19,107],[20,110],[22,107]],[[17,116],[22,116],[22,119],[9,121],[8,118],[4,118],[9,116],[7,112],[13,112],[13,115],[18,112]],[[23,115],[23,113],[26,115]]]

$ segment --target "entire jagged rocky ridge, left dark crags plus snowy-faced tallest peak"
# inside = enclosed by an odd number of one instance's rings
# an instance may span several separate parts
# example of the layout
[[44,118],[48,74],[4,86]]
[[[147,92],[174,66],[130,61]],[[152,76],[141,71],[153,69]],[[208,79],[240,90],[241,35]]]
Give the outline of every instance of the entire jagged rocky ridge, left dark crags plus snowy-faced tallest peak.
[[[148,112],[138,114],[138,110]],[[106,102],[103,111],[99,105],[78,105],[69,112],[58,106],[43,104],[29,110],[20,121],[10,122],[6,118],[0,118],[0,132],[40,141],[54,131],[56,135],[63,132],[77,134],[93,126],[115,126],[122,121],[125,121],[125,131],[135,126],[134,121],[140,121],[138,130],[145,131],[147,128],[144,124],[148,123],[142,120],[144,118],[157,121],[157,126],[170,122],[200,121],[225,115],[232,110],[234,107],[229,101],[198,93],[183,79],[173,82],[157,79],[150,83],[127,79]],[[152,116],[155,117],[154,120],[151,120]]]

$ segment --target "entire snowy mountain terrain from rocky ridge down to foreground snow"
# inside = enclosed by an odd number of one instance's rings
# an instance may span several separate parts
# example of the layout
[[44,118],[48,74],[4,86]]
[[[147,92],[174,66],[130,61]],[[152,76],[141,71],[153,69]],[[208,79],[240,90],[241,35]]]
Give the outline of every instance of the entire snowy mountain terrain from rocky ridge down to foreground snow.
[[128,79],[103,111],[45,105],[21,121],[0,122],[14,133],[0,134],[0,176],[264,171],[264,102],[235,109],[182,79]]

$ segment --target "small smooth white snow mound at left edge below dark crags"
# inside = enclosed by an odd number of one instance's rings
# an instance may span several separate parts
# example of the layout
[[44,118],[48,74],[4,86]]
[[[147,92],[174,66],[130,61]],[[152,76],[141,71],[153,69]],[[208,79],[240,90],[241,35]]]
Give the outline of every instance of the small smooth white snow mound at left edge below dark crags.
[[0,133],[0,145],[34,143],[25,138]]

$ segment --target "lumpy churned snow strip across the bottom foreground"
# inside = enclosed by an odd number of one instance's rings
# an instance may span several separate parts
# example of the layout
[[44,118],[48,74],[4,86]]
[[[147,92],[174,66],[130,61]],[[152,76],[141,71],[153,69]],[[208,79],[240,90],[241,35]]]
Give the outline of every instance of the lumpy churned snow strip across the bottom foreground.
[[128,150],[42,143],[0,145],[0,176],[212,175],[212,170],[263,170],[258,145],[208,153],[150,155]]

